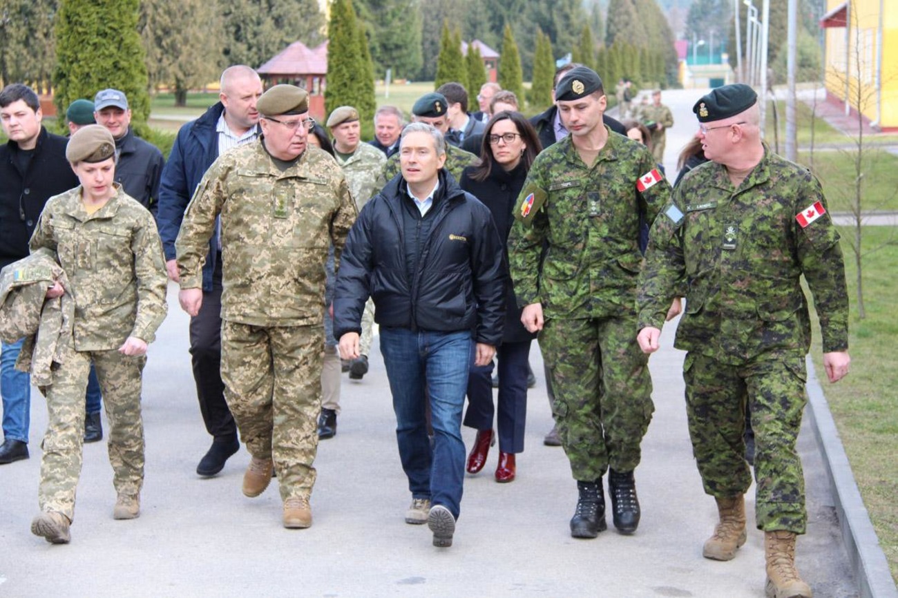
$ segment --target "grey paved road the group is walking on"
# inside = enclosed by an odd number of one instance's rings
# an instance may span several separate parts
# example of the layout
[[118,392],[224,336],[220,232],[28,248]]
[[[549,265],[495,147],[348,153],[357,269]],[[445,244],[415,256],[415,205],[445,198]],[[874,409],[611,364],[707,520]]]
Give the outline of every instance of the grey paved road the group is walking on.
[[[695,91],[670,92],[677,126],[671,154],[694,127]],[[669,170],[668,172],[671,172]],[[530,394],[526,449],[518,479],[499,485],[487,468],[465,480],[453,548],[431,546],[426,528],[403,523],[409,503],[396,452],[395,420],[379,351],[361,383],[343,387],[339,433],[322,442],[313,494],[314,525],[280,524],[276,488],[241,494],[249,455],[241,451],[216,478],[194,473],[207,448],[187,353],[187,316],[169,289],[169,318],[145,371],[146,483],[143,512],[111,518],[115,494],[104,444],[84,448],[73,541],[51,546],[31,535],[37,512],[44,401],[32,393],[31,460],[0,467],[0,597],[31,596],[565,596],[594,598],[760,598],[762,533],[753,530],[734,561],[701,558],[716,521],[691,456],[682,389],[682,353],[651,358],[655,418],[637,470],[643,516],[638,532],[612,530],[594,541],[570,537],[577,490],[559,448],[541,444],[551,427],[542,376]],[[541,373],[538,348],[533,369]],[[104,422],[105,423],[105,422]],[[464,430],[471,446],[473,432]],[[856,596],[814,435],[799,438],[806,468],[808,533],[798,567],[815,595]],[[753,526],[753,497],[749,524]]]

